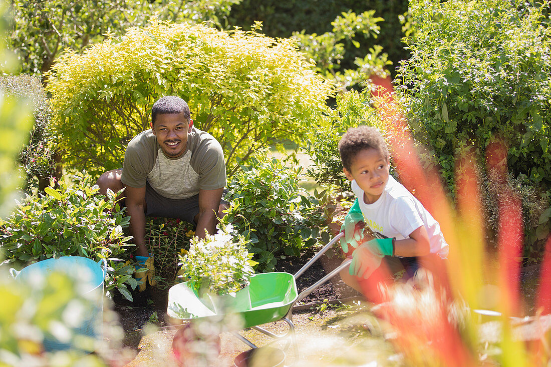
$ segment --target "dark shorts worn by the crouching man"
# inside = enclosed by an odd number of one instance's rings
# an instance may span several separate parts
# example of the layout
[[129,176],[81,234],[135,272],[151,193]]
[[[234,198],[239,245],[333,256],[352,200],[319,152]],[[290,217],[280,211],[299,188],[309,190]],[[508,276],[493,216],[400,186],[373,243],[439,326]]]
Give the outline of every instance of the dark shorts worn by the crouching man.
[[[187,199],[169,199],[156,192],[149,182],[145,184],[146,217],[179,218],[188,223],[199,214],[199,194]],[[228,204],[222,199],[220,204]]]

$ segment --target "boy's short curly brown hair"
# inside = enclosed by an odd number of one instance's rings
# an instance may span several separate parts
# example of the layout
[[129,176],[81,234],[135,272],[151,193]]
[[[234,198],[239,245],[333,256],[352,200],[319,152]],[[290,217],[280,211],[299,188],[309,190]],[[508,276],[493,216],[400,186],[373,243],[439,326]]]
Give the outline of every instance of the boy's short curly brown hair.
[[350,127],[339,142],[343,167],[350,170],[356,154],[363,149],[376,149],[388,161],[390,154],[379,129],[369,126]]

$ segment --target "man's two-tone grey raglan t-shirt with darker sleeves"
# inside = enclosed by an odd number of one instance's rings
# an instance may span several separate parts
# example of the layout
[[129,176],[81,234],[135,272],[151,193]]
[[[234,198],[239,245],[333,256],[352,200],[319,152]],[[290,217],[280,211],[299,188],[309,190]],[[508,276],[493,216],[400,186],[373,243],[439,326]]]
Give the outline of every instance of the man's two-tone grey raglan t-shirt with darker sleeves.
[[193,127],[185,152],[169,158],[149,129],[128,143],[121,181],[136,188],[144,187],[147,181],[164,197],[186,199],[197,195],[199,189],[226,186],[224,152],[212,135]]

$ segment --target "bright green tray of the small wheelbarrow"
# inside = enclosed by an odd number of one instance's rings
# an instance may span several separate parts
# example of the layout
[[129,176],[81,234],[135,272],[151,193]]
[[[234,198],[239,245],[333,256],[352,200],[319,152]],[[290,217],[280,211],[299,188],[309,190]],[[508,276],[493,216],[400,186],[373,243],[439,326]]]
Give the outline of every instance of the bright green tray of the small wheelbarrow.
[[[242,316],[243,328],[283,319],[298,298],[295,277],[284,272],[260,273],[250,278],[250,306],[234,307],[233,314]],[[231,306],[231,305],[230,305]],[[188,282],[169,289],[168,316],[182,321],[219,317],[212,304],[199,297]]]

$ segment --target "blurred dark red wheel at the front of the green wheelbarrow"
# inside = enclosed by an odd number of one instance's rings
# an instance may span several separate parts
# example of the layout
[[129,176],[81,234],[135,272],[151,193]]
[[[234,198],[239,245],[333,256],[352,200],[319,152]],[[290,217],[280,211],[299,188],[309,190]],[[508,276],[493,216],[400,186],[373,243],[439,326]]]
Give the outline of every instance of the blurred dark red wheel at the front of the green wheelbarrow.
[[220,336],[201,336],[193,325],[180,327],[172,338],[172,353],[181,366],[198,365],[199,360],[211,361],[220,355]]

